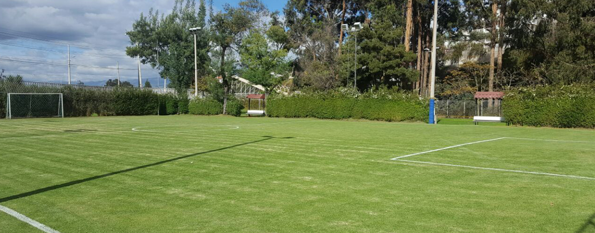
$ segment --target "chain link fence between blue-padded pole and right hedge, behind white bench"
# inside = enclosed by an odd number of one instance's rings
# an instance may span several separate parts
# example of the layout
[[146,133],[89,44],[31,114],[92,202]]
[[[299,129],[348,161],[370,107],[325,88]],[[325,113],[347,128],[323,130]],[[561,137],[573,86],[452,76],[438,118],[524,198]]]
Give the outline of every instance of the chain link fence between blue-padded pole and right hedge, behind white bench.
[[434,111],[441,118],[502,116],[502,100],[437,100]]

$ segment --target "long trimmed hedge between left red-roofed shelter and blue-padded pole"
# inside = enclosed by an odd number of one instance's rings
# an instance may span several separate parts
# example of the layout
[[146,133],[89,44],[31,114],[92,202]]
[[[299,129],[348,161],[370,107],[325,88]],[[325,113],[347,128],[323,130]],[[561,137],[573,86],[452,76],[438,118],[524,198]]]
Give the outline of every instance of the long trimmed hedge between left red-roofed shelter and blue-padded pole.
[[323,93],[269,96],[267,115],[322,119],[427,121],[428,100],[414,93],[379,89],[363,94],[346,88]]

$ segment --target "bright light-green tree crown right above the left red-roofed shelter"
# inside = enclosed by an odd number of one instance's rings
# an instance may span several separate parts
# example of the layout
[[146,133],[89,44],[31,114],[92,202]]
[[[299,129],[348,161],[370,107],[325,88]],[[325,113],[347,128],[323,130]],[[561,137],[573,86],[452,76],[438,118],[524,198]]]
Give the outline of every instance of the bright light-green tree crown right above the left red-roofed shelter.
[[248,37],[242,40],[239,51],[243,66],[242,77],[254,84],[262,85],[266,93],[271,92],[289,73],[286,49],[273,49],[270,44],[273,42],[267,40],[262,33],[252,30]]

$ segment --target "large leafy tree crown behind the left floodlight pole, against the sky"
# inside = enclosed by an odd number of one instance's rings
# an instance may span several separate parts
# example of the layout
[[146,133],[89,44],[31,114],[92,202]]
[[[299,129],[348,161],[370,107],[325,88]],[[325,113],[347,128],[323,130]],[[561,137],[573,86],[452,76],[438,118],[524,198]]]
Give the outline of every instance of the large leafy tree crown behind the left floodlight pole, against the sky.
[[133,23],[133,30],[126,33],[131,42],[126,53],[139,55],[143,64],[151,64],[154,68],[159,64],[161,77],[170,79],[170,87],[189,88],[194,83],[194,37],[188,30],[192,27],[202,27],[196,42],[199,76],[211,73],[205,17],[204,0],[200,1],[198,11],[192,0],[176,0],[172,12],[161,17],[159,11],[151,9],[148,17],[141,14]]

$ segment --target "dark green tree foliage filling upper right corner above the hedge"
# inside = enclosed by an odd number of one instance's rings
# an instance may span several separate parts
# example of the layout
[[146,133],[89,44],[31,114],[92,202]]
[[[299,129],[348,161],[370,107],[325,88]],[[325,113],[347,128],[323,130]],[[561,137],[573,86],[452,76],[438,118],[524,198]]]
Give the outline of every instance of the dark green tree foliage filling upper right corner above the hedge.
[[507,11],[504,64],[519,84],[595,81],[595,2],[517,0]]

